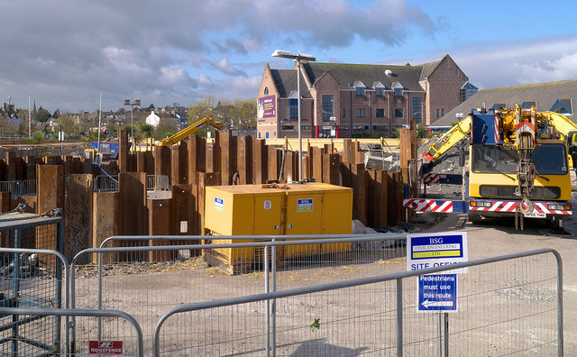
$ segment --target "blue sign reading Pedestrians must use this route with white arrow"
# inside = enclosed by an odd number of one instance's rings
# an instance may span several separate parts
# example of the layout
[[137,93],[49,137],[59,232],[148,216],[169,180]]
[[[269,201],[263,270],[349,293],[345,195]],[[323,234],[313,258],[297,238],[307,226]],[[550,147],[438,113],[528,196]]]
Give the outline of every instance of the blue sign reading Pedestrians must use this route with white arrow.
[[421,275],[418,281],[418,311],[457,311],[457,274]]

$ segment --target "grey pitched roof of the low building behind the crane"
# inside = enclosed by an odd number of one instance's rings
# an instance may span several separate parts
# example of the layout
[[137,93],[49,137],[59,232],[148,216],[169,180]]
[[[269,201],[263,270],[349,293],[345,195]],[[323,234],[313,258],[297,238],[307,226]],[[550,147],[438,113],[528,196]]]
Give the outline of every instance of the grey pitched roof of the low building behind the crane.
[[[551,109],[557,100],[561,99],[577,103],[577,79],[527,86],[482,89],[462,104],[455,106],[447,114],[444,114],[442,118],[435,121],[435,125],[450,125],[457,121],[455,114],[471,113],[473,108],[480,108],[482,103],[485,103],[486,108],[490,108],[499,103],[513,107],[516,104],[522,105],[523,102],[536,102],[537,110],[545,112]],[[565,101],[562,102],[565,103]],[[572,110],[574,111],[574,108]],[[575,121],[576,119],[572,120]]]

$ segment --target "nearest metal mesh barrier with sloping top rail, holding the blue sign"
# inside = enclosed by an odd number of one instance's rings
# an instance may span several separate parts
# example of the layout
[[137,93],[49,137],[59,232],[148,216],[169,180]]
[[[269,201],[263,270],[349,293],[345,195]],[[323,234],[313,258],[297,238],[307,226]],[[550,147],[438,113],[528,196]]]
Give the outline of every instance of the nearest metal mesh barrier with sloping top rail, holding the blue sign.
[[[549,253],[553,260],[538,261],[545,254],[550,258]],[[544,262],[553,273],[544,269]],[[488,264],[492,271],[488,271]],[[417,297],[411,285],[417,281],[411,283],[409,278],[465,267],[470,269],[458,279],[458,313],[449,317],[415,311]],[[278,316],[263,323],[264,314],[258,312],[265,308],[265,301],[276,306]],[[176,316],[179,324],[165,326]],[[267,334],[270,324],[273,334]],[[174,334],[183,329],[186,337]],[[426,356],[441,355],[443,349],[444,355],[450,351],[463,356],[563,356],[563,268],[559,254],[542,249],[451,267],[182,305],[160,318],[153,336],[156,357]]]

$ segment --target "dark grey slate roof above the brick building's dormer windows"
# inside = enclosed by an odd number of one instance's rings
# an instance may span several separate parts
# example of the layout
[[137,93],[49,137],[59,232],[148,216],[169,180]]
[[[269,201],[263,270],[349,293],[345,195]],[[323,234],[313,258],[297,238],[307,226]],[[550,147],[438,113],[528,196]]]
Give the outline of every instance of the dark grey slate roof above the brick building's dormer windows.
[[[314,84],[328,71],[341,85],[341,89],[354,89],[353,85],[357,81],[362,81],[366,85],[380,81],[385,87],[391,88],[393,82],[400,84],[407,90],[424,91],[418,83],[422,66],[393,66],[393,65],[363,65],[350,63],[318,63],[308,62],[302,65],[306,70],[308,78]],[[385,70],[391,70],[389,77]]]

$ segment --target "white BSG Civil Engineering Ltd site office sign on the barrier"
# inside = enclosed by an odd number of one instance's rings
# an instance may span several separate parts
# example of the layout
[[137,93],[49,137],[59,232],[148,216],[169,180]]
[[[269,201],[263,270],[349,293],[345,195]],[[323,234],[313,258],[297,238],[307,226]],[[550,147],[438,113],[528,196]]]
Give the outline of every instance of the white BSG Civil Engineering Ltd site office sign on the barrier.
[[[417,233],[407,235],[407,270],[421,270],[469,261],[467,233]],[[465,273],[467,268],[444,271]]]

